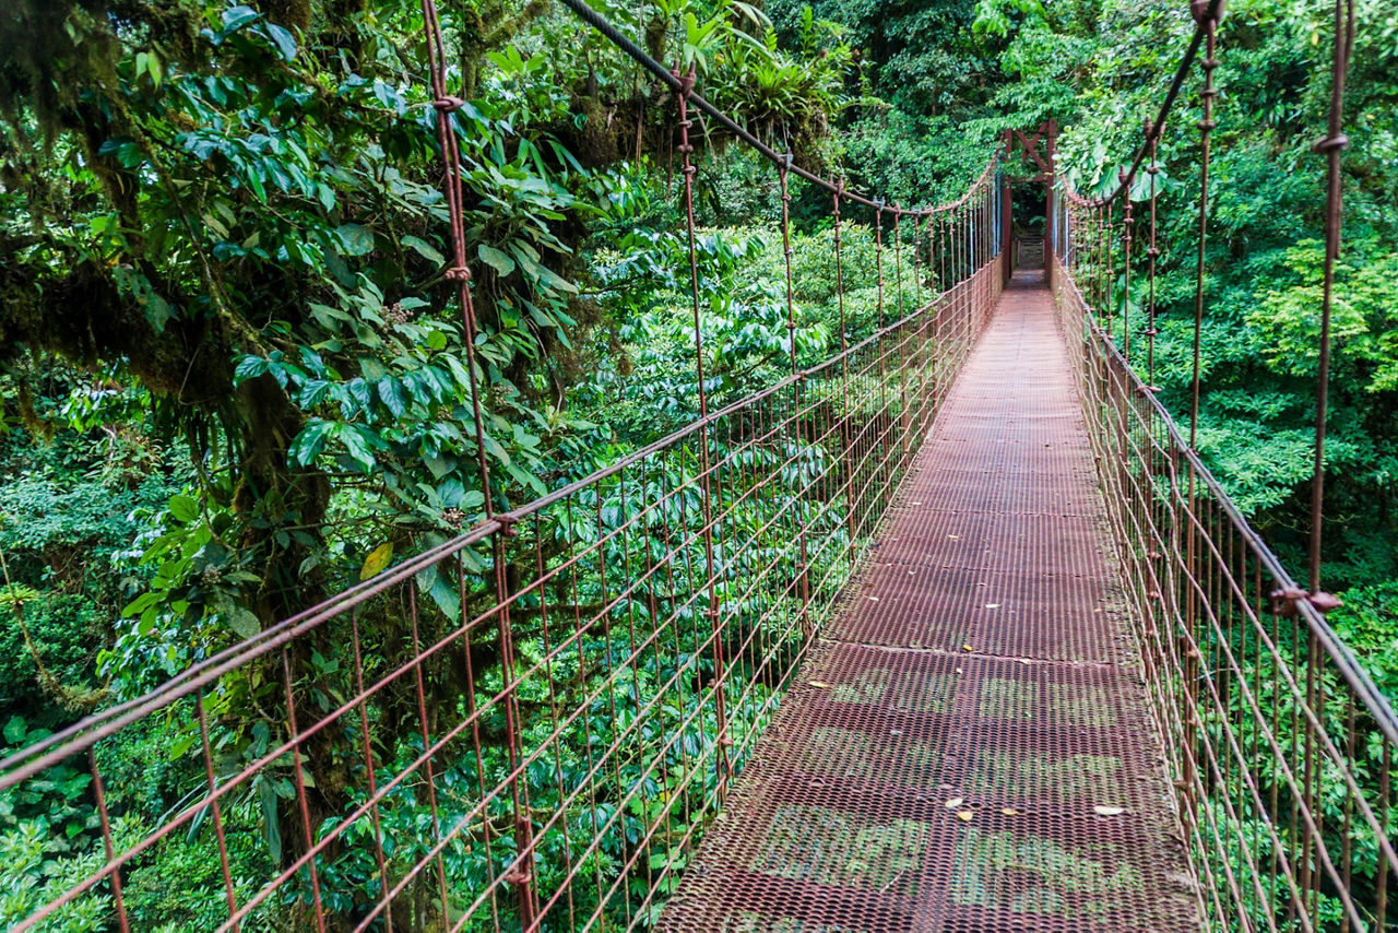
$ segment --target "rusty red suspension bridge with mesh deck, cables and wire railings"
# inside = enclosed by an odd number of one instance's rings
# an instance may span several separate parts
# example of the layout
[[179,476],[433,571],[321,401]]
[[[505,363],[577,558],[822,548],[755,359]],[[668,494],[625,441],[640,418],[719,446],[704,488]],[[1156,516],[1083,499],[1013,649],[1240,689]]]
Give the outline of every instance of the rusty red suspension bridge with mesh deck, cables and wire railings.
[[[1114,193],[1071,190],[1048,124],[1007,136],[960,199],[921,208],[802,169],[710,106],[692,73],[566,6],[674,94],[691,260],[696,122],[770,159],[787,242],[790,178],[829,196],[840,351],[801,368],[791,341],[788,378],[710,410],[691,262],[693,424],[533,502],[487,497],[456,540],[0,762],[0,790],[77,762],[105,841],[17,929],[84,905],[94,929],[140,929],[123,878],[200,834],[219,862],[219,930],[1388,929],[1398,718],[1324,617],[1325,364],[1306,587],[1192,443],[1218,0],[1192,4]],[[431,0],[424,14],[470,351],[460,101]],[[1327,323],[1349,17],[1338,4],[1318,144]],[[1181,427],[1152,385],[1155,179],[1197,66]],[[1016,155],[1050,196],[1028,252],[1007,197]],[[1132,203],[1142,178],[1149,200]],[[857,343],[850,222],[875,231],[882,315]],[[1015,267],[1040,250],[1042,269]],[[1134,327],[1132,274],[1149,295]],[[788,248],[794,329],[791,292]],[[1324,361],[1328,327],[1321,340]],[[484,456],[481,473],[491,488]],[[411,638],[383,656],[386,613]],[[331,646],[344,663],[324,663]],[[261,730],[229,748],[214,726],[246,712],[238,697]],[[133,829],[108,807],[108,750],[162,723],[183,725],[206,781]],[[233,841],[268,831],[278,857],[235,877]]]

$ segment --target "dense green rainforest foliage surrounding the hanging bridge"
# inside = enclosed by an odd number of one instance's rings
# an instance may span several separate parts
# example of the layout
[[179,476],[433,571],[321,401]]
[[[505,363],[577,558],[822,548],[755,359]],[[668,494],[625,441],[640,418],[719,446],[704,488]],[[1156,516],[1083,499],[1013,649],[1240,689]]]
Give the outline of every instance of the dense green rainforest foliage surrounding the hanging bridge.
[[[1106,190],[1192,25],[1184,4],[1146,0],[593,6],[657,59],[692,64],[700,91],[779,151],[906,204],[962,190],[1002,130],[1046,119],[1064,127],[1060,165],[1075,186]],[[1398,14],[1360,0],[1359,20],[1325,579],[1346,603],[1332,621],[1398,688]],[[443,25],[449,85],[466,99],[453,129],[475,373],[442,274],[417,3],[7,4],[0,747],[140,695],[447,540],[487,498],[526,502],[696,415],[671,95],[548,0],[443,4]],[[1199,446],[1293,568],[1309,532],[1323,256],[1323,159],[1310,145],[1329,94],[1329,29],[1324,4],[1234,0],[1216,76]],[[1177,413],[1188,406],[1197,78],[1160,147],[1156,383]],[[788,337],[776,172],[717,127],[695,141],[707,389],[721,404],[786,375],[788,340],[808,362],[839,348],[833,234],[828,197],[795,183]],[[1043,222],[1032,197],[1016,204],[1016,224]],[[877,325],[877,280],[871,218],[850,218],[844,313],[857,339]],[[1144,326],[1139,276],[1132,284],[1120,299]],[[424,599],[452,611],[431,581]],[[372,624],[373,650],[403,648],[404,618]],[[340,659],[320,645],[306,660]],[[275,687],[254,681],[224,708],[254,708]],[[218,729],[229,762],[268,743],[256,715]],[[173,732],[196,734],[187,722]],[[169,748],[154,723],[123,741],[117,772],[123,760],[165,764],[110,781],[113,809],[154,818],[201,786],[190,744]],[[0,922],[99,863],[87,782],[64,765],[0,796]],[[287,796],[268,782],[236,804],[266,817],[263,832],[229,841],[239,884],[285,862]],[[333,818],[343,800],[322,803],[317,816]],[[168,841],[133,873],[127,906],[143,927],[208,926],[224,897],[212,845],[208,832]],[[372,898],[372,871],[345,880],[344,897]],[[103,929],[99,913],[62,923]]]

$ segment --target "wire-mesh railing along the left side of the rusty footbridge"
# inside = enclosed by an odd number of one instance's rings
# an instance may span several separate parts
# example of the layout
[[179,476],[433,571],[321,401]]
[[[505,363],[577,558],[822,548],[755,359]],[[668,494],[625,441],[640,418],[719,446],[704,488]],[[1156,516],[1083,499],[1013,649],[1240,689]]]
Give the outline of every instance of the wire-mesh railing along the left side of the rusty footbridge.
[[217,878],[185,929],[643,926],[988,319],[997,194],[867,340],[0,762],[102,843],[14,929],[147,929],[169,859]]

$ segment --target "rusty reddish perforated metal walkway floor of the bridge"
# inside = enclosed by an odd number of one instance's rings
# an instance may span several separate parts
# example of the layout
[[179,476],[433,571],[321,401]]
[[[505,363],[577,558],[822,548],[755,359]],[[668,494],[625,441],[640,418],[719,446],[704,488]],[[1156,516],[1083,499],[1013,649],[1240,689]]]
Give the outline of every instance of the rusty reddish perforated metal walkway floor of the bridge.
[[1005,292],[658,929],[1198,929],[1051,301]]

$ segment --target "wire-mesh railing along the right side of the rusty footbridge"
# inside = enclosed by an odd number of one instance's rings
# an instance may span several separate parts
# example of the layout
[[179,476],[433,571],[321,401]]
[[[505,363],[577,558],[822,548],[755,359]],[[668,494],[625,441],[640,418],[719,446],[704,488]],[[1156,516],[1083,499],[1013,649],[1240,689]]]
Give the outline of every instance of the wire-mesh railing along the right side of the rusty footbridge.
[[1388,929],[1398,718],[1099,323],[1100,256],[1071,242],[1060,320],[1211,929]]

